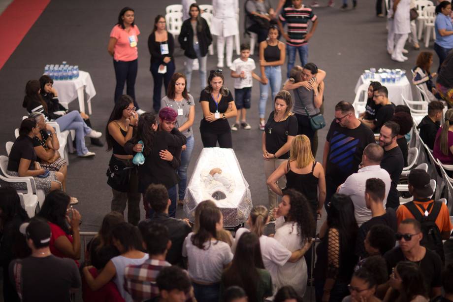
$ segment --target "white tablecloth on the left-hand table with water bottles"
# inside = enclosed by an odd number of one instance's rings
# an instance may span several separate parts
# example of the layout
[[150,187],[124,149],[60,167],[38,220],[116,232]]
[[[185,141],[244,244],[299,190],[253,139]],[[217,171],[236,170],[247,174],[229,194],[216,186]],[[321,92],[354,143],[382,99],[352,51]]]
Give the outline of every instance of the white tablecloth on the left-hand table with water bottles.
[[54,81],[54,87],[57,89],[58,99],[61,102],[70,103],[78,98],[80,111],[82,112],[85,112],[85,100],[83,95],[83,91],[85,91],[88,97],[88,111],[89,114],[91,114],[91,99],[96,96],[96,89],[91,80],[90,73],[80,70],[78,78],[73,80]]

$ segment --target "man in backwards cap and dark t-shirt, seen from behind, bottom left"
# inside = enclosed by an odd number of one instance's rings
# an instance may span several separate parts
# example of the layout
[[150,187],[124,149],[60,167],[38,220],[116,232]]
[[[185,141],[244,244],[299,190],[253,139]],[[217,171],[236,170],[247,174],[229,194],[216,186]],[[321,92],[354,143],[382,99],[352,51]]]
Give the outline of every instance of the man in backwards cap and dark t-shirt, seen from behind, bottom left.
[[49,224],[32,218],[21,225],[20,232],[26,236],[32,256],[12,261],[9,272],[22,302],[70,302],[70,292],[81,285],[79,270],[74,260],[51,254]]

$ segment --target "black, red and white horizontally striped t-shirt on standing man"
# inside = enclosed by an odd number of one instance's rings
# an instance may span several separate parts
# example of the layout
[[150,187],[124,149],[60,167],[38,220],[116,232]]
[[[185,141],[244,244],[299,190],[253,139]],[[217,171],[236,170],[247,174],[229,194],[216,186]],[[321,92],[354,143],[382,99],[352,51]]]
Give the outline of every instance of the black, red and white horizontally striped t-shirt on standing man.
[[318,17],[310,7],[302,5],[300,8],[294,8],[291,5],[283,9],[279,18],[288,25],[288,35],[290,36],[287,41],[288,45],[302,46],[307,44],[305,35],[308,33],[308,21],[315,22]]

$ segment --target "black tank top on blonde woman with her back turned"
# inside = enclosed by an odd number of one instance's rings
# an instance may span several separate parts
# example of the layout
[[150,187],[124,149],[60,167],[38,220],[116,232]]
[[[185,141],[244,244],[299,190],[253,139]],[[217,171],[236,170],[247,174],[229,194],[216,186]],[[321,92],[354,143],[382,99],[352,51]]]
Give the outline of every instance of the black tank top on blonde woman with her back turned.
[[313,167],[310,173],[299,174],[291,171],[290,160],[288,160],[288,173],[286,173],[286,188],[294,189],[299,191],[307,198],[311,207],[316,210],[318,209],[318,177],[313,175],[315,170],[316,161],[313,163]]

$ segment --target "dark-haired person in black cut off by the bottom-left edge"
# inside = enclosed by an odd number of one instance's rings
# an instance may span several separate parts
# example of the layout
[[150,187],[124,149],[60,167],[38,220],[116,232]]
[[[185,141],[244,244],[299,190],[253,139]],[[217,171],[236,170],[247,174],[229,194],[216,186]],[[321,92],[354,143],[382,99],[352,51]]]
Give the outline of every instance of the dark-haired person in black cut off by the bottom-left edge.
[[14,288],[14,280],[10,280],[9,263],[18,258],[30,255],[25,236],[19,232],[22,223],[29,217],[22,208],[21,201],[14,188],[0,188],[0,266],[3,268],[3,301],[19,302]]

